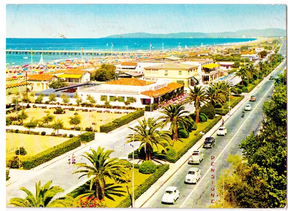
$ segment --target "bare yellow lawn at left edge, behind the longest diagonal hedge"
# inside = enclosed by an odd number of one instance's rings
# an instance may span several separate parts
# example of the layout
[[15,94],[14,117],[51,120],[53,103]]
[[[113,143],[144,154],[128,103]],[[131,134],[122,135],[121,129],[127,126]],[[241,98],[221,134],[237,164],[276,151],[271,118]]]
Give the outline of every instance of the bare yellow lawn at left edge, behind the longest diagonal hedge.
[[[23,146],[27,151],[27,155],[21,156],[22,159],[36,155],[48,148],[61,144],[64,141],[67,141],[68,139],[69,138],[63,138],[63,137],[51,137],[51,136],[29,135],[22,133],[7,132],[6,149],[9,149],[14,146]],[[6,154],[6,164],[14,156],[16,156],[15,152]]]

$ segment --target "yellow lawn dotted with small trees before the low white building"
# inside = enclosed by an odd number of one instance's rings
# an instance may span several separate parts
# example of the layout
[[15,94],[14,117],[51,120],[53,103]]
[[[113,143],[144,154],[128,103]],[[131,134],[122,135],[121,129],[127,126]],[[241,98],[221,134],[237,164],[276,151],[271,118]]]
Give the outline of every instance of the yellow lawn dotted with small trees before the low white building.
[[[74,113],[78,113],[81,116],[81,120],[84,120],[86,117],[88,117],[83,123],[82,123],[82,128],[85,129],[86,127],[92,127],[93,129],[95,128],[92,123],[94,123],[94,117],[89,117],[89,115],[94,115],[96,116],[96,129],[100,131],[100,126],[105,125],[109,122],[112,122],[113,120],[122,117],[126,114],[114,114],[114,113],[97,113],[96,111],[93,112],[83,112],[83,111],[69,111],[65,110],[66,114],[53,114],[55,109],[42,109],[42,108],[28,108],[25,109],[25,112],[28,114],[28,119],[25,120],[23,123],[29,122],[32,117],[34,119],[41,119],[42,117],[46,116],[47,113],[44,111],[50,111],[50,114],[55,116],[59,119],[62,119],[64,122],[64,127],[73,127],[69,125],[69,117],[74,116]],[[18,112],[19,114],[19,112]],[[6,117],[8,116],[15,116],[15,112],[11,114],[7,114]],[[53,122],[52,122],[53,123]],[[49,123],[51,124],[51,123]],[[80,127],[80,125],[79,125]]]

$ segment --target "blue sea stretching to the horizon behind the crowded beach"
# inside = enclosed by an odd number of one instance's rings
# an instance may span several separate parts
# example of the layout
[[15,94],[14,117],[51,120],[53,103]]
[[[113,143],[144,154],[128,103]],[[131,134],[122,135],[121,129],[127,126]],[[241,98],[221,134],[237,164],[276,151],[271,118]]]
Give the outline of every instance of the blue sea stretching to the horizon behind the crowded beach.
[[[179,45],[185,47],[212,46],[233,42],[248,42],[256,39],[253,38],[190,38],[190,39],[145,39],[145,38],[119,38],[119,39],[16,39],[6,38],[6,49],[34,49],[34,50],[94,50],[94,51],[110,51],[111,43],[113,44],[112,51],[136,51],[162,50],[164,43],[164,51],[177,49]],[[102,56],[102,55],[100,55]],[[99,57],[100,57],[99,56]],[[80,59],[80,55],[43,55],[44,62],[60,61],[65,59]],[[83,55],[83,58],[97,57],[96,55]],[[40,60],[39,54],[33,54],[33,63]],[[31,64],[30,54],[6,54],[6,63],[9,66]]]

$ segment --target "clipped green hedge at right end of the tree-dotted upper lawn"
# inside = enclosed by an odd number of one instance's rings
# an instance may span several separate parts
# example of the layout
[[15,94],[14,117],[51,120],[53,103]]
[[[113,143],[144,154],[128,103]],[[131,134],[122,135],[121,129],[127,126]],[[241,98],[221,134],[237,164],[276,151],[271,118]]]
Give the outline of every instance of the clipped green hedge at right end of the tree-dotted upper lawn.
[[118,127],[124,126],[133,120],[136,120],[142,116],[144,116],[144,110],[137,110],[132,113],[129,113],[123,117],[113,120],[111,123],[100,126],[100,132],[110,132]]

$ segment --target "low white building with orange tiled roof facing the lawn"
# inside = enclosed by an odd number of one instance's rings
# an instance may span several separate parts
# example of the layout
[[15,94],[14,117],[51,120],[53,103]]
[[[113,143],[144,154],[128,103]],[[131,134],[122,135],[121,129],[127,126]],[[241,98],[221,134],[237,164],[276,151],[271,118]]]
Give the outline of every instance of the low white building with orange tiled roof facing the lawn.
[[[87,101],[87,95],[90,94],[96,100],[96,104],[104,105],[106,101],[113,106],[126,106],[124,102],[131,102],[132,97],[136,102],[127,106],[144,108],[150,102],[158,103],[159,98],[166,93],[172,94],[172,91],[183,87],[182,84],[169,83],[166,81],[144,81],[140,79],[119,79],[101,85],[89,85],[78,87],[78,96],[81,96],[83,102]],[[115,98],[117,97],[117,101]]]

